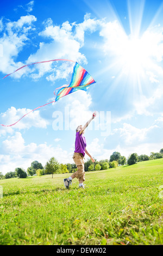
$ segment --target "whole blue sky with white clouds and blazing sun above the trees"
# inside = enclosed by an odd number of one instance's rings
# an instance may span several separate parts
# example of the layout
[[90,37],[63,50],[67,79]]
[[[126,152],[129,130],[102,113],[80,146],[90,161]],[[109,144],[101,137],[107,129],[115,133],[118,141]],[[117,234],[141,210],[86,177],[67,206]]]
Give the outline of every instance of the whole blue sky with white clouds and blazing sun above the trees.
[[[0,172],[26,170],[35,160],[44,166],[52,156],[72,163],[76,127],[93,111],[98,115],[85,138],[97,160],[114,151],[128,157],[163,148],[162,12],[163,1],[149,0],[3,2],[1,78],[23,65],[64,58],[96,83],[1,126]],[[72,70],[68,62],[38,64],[1,79],[0,123],[15,123],[54,100]]]

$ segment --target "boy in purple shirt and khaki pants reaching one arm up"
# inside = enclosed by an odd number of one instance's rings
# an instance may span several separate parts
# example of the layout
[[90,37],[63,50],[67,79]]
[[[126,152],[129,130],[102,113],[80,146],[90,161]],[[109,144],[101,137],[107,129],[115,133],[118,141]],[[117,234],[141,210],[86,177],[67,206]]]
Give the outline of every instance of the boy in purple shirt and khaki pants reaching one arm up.
[[89,121],[86,122],[84,126],[79,125],[76,129],[76,142],[75,150],[73,154],[73,161],[76,163],[77,172],[73,173],[69,178],[64,179],[64,185],[66,188],[72,184],[72,179],[77,178],[79,180],[79,188],[84,188],[83,182],[85,181],[85,171],[84,171],[84,156],[87,154],[92,162],[95,162],[95,159],[88,153],[86,150],[86,140],[83,136],[86,127],[90,122],[96,117],[96,113],[92,114],[92,117]]

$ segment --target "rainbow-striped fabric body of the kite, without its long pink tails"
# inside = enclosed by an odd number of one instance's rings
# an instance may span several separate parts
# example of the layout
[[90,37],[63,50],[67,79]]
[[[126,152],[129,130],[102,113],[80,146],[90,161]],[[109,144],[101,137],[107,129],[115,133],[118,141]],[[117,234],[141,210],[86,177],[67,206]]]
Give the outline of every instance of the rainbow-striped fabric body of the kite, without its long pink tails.
[[59,90],[55,101],[70,93],[74,93],[77,90],[86,91],[87,88],[93,83],[96,83],[93,77],[91,77],[90,74],[76,62],[73,68],[71,83],[69,84],[69,86],[60,87],[61,89],[58,88]]

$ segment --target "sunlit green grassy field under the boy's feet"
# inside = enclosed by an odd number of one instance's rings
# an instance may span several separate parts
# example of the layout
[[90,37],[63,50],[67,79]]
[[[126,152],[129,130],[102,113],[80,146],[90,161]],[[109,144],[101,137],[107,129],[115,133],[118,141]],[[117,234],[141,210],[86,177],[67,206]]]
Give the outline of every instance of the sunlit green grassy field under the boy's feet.
[[69,175],[0,180],[0,245],[163,245],[163,159]]

